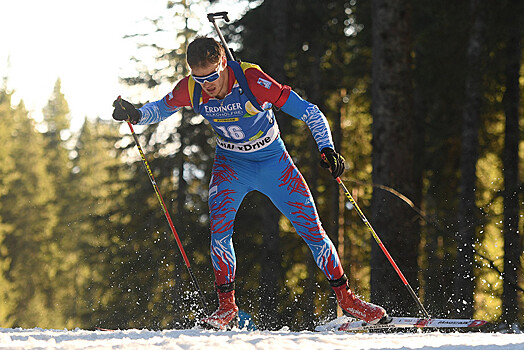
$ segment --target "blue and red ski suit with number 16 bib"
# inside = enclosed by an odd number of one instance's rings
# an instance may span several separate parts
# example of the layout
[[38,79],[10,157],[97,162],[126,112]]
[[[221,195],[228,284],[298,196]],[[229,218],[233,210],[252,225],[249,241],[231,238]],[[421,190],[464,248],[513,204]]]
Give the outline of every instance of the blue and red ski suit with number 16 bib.
[[[257,190],[268,196],[307,243],[327,279],[344,274],[335,246],[324,231],[311,192],[280,138],[272,106],[308,125],[319,150],[334,148],[325,116],[317,106],[281,85],[259,66],[241,63],[249,89],[264,109],[248,100],[228,64],[228,94],[210,98],[202,91],[193,101],[195,81],[187,76],[161,100],[139,109],[138,124],[158,123],[180,108],[198,103],[200,114],[216,133],[216,152],[209,184],[211,261],[217,285],[235,279],[233,248],[235,215],[247,193]],[[223,73],[223,74],[224,74]],[[258,108],[260,108],[258,106]]]

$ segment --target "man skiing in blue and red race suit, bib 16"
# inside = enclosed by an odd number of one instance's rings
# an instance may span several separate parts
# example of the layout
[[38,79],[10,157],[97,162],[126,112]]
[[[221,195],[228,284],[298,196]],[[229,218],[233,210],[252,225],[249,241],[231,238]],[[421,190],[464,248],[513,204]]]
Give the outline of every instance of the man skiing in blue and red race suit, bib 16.
[[180,80],[164,98],[139,109],[119,99],[114,103],[113,118],[152,124],[190,106],[209,121],[216,133],[208,203],[211,260],[219,307],[202,319],[201,324],[214,329],[229,329],[238,324],[233,224],[243,198],[253,190],[267,195],[293,224],[335,291],[344,313],[372,324],[386,319],[382,307],[359,299],[349,289],[311,192],[280,137],[272,106],[308,125],[324,159],[321,164],[337,178],[344,171],[344,158],[335,151],[322,112],[257,65],[227,61],[224,48],[212,38],[197,37],[191,42],[187,47],[187,63],[191,75]]

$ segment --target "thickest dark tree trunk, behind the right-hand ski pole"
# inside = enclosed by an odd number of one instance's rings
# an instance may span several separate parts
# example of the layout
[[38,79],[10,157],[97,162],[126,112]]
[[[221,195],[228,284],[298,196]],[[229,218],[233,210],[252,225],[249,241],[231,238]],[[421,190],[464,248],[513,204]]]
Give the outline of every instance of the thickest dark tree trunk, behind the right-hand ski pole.
[[[413,92],[409,1],[372,3],[372,165],[373,183],[413,198]],[[418,220],[397,197],[373,190],[372,225],[405,277],[415,288],[420,242]],[[371,296],[390,314],[405,314],[416,305],[375,242],[371,248]]]

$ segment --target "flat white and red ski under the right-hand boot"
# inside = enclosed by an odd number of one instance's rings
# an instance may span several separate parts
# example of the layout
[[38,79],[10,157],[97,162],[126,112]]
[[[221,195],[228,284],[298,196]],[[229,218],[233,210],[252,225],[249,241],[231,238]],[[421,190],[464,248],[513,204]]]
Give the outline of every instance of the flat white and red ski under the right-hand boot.
[[392,328],[472,328],[483,326],[486,323],[487,321],[474,319],[390,317],[384,323],[369,324],[362,320],[342,316],[324,325],[317,326],[316,330],[319,332],[358,332]]

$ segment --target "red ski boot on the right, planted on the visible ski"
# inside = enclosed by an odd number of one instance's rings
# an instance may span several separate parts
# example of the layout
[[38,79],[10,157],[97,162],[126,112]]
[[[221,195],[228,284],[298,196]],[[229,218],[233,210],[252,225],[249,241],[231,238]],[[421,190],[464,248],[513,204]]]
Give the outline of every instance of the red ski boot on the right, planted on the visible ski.
[[346,275],[338,280],[329,281],[329,284],[335,291],[338,304],[344,314],[360,318],[371,324],[387,319],[387,313],[383,307],[361,300],[353,294],[349,289]]

